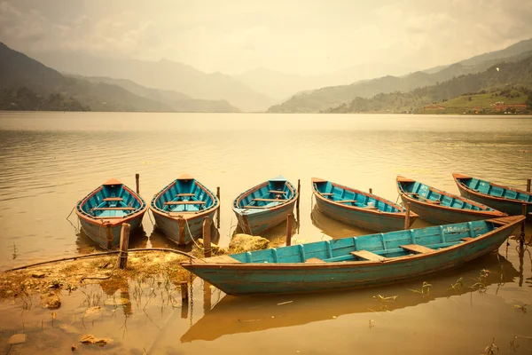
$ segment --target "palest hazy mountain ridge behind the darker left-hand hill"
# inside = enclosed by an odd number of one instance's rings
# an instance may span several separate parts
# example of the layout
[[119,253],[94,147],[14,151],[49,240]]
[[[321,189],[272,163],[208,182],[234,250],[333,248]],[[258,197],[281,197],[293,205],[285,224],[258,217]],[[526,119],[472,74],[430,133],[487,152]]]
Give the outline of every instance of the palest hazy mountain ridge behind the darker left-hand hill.
[[264,111],[276,102],[230,75],[207,74],[167,59],[104,59],[72,52],[34,55],[63,73],[128,79],[148,88],[177,91],[194,99],[226,100],[242,111]]

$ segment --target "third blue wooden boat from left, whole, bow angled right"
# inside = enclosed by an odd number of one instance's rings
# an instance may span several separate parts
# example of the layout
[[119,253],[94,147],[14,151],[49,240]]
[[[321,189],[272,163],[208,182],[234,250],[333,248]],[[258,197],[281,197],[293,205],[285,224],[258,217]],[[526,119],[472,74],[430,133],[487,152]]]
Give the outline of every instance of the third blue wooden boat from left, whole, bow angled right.
[[258,235],[286,221],[297,195],[285,177],[274,177],[240,193],[233,211],[244,233]]

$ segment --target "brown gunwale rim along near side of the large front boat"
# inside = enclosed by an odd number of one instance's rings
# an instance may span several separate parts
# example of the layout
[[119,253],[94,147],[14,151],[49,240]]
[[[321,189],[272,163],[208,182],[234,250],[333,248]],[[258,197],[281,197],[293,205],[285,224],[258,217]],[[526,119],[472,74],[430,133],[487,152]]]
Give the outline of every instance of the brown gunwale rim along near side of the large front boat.
[[[181,265],[188,270],[187,266],[191,268],[198,269],[208,269],[208,268],[219,268],[219,269],[242,269],[246,270],[297,270],[297,269],[344,269],[352,268],[353,266],[381,266],[381,265],[390,265],[390,264],[403,264],[411,262],[412,260],[430,258],[433,256],[439,256],[442,254],[450,253],[458,248],[465,248],[465,246],[470,245],[474,242],[479,242],[491,237],[495,233],[500,233],[505,231],[508,228],[516,228],[520,222],[525,219],[524,216],[509,216],[509,217],[498,217],[494,219],[486,219],[485,222],[493,223],[499,225],[491,230],[489,233],[484,233],[476,236],[473,240],[461,241],[455,245],[451,245],[446,248],[434,249],[434,252],[431,253],[420,253],[420,254],[409,254],[406,256],[395,256],[390,258],[385,258],[380,261],[372,260],[353,260],[353,261],[338,261],[338,262],[328,262],[328,263],[207,263],[204,259],[191,259],[189,262],[183,262]],[[462,222],[455,225],[467,224],[468,222]],[[426,227],[431,228],[431,227]],[[420,228],[424,229],[424,228]],[[319,241],[316,241],[319,242]],[[231,255],[229,255],[231,256]]]

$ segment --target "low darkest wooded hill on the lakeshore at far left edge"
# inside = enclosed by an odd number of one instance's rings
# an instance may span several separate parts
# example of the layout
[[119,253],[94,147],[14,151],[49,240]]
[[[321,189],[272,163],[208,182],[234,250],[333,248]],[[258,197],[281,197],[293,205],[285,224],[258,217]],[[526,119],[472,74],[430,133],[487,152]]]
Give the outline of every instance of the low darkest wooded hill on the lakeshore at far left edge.
[[43,97],[26,87],[0,90],[0,110],[4,111],[90,111],[76,99],[60,94]]

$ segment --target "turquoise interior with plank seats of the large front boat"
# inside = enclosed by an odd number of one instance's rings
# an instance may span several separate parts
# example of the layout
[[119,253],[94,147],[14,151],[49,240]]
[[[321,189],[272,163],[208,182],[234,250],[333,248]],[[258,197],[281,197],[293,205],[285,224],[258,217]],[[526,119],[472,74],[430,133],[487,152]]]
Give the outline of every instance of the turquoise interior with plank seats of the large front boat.
[[471,241],[496,229],[489,221],[377,233],[332,241],[232,254],[240,263],[323,264],[344,261],[383,261],[387,258],[432,253]]

